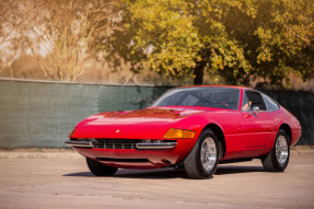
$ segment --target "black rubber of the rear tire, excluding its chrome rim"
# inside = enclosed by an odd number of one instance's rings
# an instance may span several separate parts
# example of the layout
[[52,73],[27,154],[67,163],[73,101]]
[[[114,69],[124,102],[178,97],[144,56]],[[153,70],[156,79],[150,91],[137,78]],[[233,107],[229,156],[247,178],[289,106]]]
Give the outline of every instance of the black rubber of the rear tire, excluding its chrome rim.
[[[277,142],[279,140],[279,138],[286,139],[286,143],[287,143],[287,151],[288,151],[288,155],[284,162],[280,162],[276,155],[276,149],[277,149]],[[264,166],[264,170],[267,172],[283,172],[289,163],[289,159],[290,159],[290,138],[289,136],[284,132],[284,130],[279,129],[277,136],[276,136],[276,140],[275,140],[275,144],[271,149],[271,151],[261,159],[261,163]],[[286,154],[284,154],[286,155]]]

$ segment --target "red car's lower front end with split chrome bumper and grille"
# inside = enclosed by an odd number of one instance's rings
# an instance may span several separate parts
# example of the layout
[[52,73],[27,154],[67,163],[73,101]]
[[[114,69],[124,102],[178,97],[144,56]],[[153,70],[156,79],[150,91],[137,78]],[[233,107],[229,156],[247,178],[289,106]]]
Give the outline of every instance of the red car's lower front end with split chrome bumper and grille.
[[[123,139],[124,141],[131,141]],[[132,140],[132,144],[103,144],[92,141],[73,141],[66,143],[80,154],[103,164],[121,169],[158,169],[182,161],[193,149],[195,139],[175,140]]]

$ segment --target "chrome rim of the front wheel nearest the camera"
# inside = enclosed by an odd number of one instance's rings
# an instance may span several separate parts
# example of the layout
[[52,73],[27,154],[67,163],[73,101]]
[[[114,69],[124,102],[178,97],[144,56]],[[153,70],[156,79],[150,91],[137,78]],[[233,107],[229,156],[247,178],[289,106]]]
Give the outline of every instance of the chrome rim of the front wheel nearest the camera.
[[200,162],[205,171],[210,172],[217,161],[217,147],[214,140],[209,137],[202,141],[200,149]]

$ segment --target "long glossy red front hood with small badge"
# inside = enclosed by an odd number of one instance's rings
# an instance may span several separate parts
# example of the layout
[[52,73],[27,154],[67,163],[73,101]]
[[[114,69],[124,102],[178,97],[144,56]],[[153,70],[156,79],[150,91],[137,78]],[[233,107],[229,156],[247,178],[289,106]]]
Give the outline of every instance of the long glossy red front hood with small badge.
[[82,120],[73,138],[161,139],[170,128],[201,109],[146,108],[141,111],[107,112]]

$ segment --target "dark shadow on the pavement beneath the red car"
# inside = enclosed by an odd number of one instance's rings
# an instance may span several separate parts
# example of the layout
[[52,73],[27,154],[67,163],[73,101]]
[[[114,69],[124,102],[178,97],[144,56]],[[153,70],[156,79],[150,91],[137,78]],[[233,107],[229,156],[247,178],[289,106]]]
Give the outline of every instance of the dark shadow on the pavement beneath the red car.
[[[264,172],[263,166],[219,165],[214,175]],[[91,172],[65,174],[63,176],[96,177]],[[188,178],[185,171],[172,167],[156,170],[118,170],[113,177],[121,178]]]

